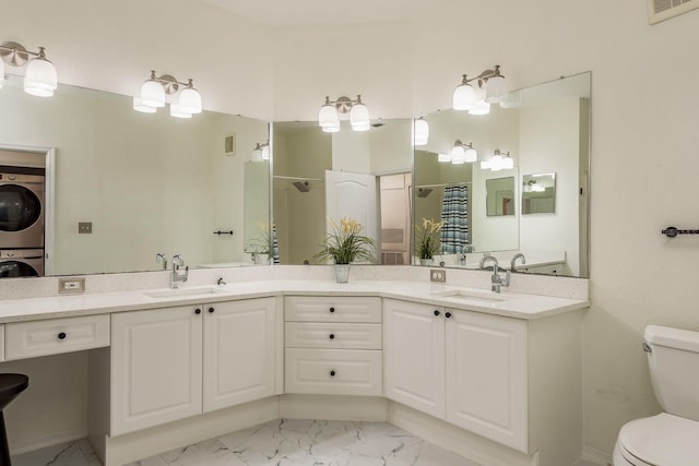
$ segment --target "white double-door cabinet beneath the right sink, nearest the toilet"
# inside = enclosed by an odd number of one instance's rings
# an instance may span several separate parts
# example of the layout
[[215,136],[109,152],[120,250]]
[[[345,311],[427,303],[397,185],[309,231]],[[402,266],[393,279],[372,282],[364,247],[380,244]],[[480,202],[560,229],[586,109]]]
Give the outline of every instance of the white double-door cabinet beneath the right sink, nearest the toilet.
[[528,451],[526,321],[387,299],[386,396]]

